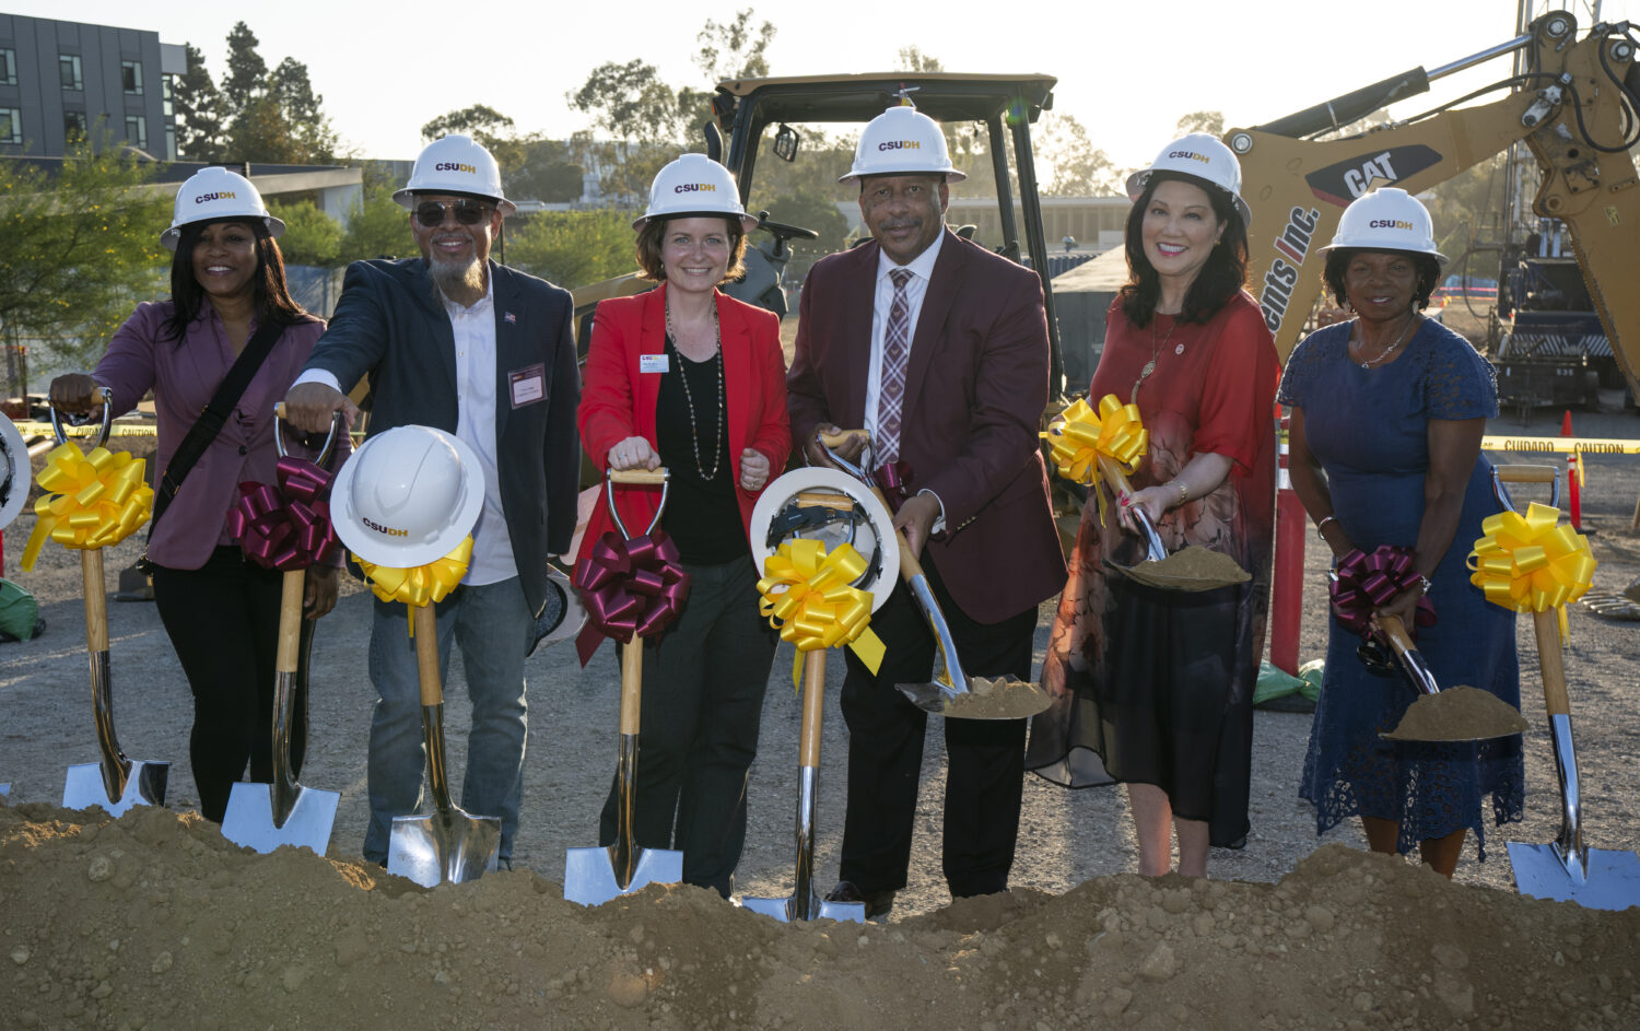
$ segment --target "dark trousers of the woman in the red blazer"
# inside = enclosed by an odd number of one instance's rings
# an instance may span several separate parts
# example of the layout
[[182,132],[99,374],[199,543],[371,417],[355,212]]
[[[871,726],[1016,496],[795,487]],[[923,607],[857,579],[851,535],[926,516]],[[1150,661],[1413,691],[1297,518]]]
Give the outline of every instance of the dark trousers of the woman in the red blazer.
[[[684,882],[727,898],[746,843],[746,774],[779,638],[758,615],[749,557],[684,569],[684,611],[643,644],[633,841],[681,849]],[[615,843],[618,787],[599,820],[605,846]]]

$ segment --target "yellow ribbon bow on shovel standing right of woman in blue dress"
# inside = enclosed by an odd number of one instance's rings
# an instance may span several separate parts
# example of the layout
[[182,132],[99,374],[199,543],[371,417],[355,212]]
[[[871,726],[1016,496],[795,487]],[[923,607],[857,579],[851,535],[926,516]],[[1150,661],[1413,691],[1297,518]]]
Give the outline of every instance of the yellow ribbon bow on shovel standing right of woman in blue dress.
[[1533,503],[1522,516],[1499,511],[1481,523],[1486,534],[1469,551],[1469,582],[1486,600],[1514,611],[1560,610],[1566,636],[1566,605],[1594,582],[1589,539],[1560,523],[1560,510]]

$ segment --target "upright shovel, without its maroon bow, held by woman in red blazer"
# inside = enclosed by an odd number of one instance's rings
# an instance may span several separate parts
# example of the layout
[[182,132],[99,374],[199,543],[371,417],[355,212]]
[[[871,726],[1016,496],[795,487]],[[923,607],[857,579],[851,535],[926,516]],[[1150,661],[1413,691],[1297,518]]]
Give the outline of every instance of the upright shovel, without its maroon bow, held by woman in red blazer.
[[[666,469],[615,470],[605,475],[610,516],[623,538],[626,526],[615,510],[615,484],[659,484],[661,503],[645,536],[654,533],[666,511]],[[630,895],[648,883],[679,883],[684,879],[684,854],[677,849],[640,849],[633,841],[633,795],[638,783],[638,729],[643,716],[643,638],[620,646],[620,739],[615,751],[615,843],[566,849],[564,898],[584,906]]]

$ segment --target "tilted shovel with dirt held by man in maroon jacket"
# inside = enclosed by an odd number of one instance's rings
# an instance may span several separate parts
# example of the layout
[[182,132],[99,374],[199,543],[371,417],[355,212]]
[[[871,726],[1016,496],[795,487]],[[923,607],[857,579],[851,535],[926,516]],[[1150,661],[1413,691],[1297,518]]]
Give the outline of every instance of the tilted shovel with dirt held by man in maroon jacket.
[[[877,500],[887,506],[882,488],[877,487],[877,482],[868,472],[871,461],[864,459],[861,466],[856,466],[833,451],[835,446],[854,433],[866,431],[822,433],[817,439],[825,447],[827,457],[838,469],[871,487],[871,493],[877,495]],[[868,443],[866,447],[869,454],[871,444]],[[928,621],[928,629],[933,631],[940,661],[945,667],[943,672],[936,674],[927,684],[895,685],[900,688],[900,693],[925,713],[958,720],[1023,720],[1045,711],[1050,705],[1048,692],[1041,690],[1036,684],[1025,684],[1023,680],[1010,680],[1007,677],[969,677],[963,672],[963,662],[956,654],[956,643],[951,639],[951,628],[945,621],[945,613],[940,611],[933,588],[928,587],[928,575],[923,574],[922,564],[912,552],[910,544],[905,543],[905,534],[895,529],[894,536],[900,551],[900,579],[905,580],[905,587],[910,588],[917,608],[922,610],[923,618]]]

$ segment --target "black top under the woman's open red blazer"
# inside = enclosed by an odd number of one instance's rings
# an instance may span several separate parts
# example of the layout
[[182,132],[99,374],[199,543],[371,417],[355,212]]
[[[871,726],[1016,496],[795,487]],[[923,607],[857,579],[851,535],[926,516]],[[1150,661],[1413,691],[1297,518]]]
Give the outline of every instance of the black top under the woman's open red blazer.
[[[725,433],[718,433],[718,408],[725,403],[720,356],[722,349],[704,362],[692,362],[677,352],[672,338],[667,336],[667,370],[661,375],[661,393],[654,402],[654,438],[661,462],[672,474],[663,526],[677,543],[679,557],[695,565],[749,561],[751,556],[740,521],[740,502],[735,500],[735,482],[740,474],[728,454],[727,415],[722,418]],[[694,421],[689,418],[690,400],[694,400]],[[713,464],[717,474],[707,480],[700,469],[705,467],[710,474]]]

